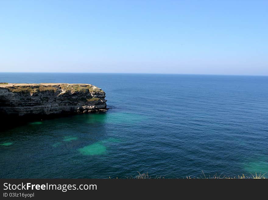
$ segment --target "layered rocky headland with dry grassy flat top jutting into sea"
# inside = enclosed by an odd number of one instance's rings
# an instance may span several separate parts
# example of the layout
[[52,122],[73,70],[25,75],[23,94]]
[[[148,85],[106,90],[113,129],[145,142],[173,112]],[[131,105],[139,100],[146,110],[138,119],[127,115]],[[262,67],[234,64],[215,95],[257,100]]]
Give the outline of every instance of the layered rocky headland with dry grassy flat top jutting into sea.
[[0,84],[0,115],[35,117],[106,111],[105,92],[90,84]]

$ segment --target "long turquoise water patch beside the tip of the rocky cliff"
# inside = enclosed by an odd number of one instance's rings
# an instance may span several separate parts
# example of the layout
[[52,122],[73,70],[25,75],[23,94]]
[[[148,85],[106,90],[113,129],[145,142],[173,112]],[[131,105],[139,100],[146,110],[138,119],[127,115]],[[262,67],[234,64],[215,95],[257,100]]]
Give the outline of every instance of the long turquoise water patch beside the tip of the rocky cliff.
[[111,112],[104,114],[90,114],[88,115],[88,123],[118,123],[118,124],[133,124],[145,120],[146,118],[141,114],[134,114],[128,112]]

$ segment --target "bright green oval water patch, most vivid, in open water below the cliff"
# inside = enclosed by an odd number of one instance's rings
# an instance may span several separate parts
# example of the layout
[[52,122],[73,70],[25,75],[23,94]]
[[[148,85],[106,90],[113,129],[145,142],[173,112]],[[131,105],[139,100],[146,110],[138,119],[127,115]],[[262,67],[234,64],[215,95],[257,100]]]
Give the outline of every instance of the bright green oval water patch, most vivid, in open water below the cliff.
[[96,142],[91,145],[84,146],[78,150],[81,154],[89,156],[102,155],[107,151],[106,146],[104,146],[102,142]]

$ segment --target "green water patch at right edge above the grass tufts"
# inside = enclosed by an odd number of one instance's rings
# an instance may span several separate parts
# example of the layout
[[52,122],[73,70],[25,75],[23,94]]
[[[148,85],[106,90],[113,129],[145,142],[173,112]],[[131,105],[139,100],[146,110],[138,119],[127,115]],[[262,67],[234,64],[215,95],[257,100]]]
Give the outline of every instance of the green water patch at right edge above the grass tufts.
[[256,175],[265,174],[268,177],[268,158],[260,157],[258,160],[250,161],[244,166],[245,172]]

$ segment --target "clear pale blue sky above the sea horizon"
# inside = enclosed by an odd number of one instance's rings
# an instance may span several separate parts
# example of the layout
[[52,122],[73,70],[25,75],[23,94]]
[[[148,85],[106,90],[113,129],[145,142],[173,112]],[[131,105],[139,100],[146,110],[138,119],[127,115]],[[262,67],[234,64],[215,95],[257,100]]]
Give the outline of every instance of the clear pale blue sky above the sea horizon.
[[268,75],[268,1],[0,0],[0,72]]

